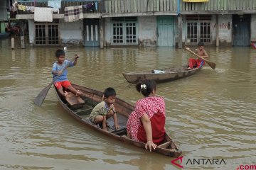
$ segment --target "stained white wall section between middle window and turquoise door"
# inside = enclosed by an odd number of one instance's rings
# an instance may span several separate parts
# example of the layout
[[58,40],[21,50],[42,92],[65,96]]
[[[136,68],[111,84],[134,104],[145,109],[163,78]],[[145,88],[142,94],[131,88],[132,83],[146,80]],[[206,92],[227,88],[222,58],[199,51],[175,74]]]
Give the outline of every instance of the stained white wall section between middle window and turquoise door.
[[156,46],[156,16],[138,17],[139,46]]

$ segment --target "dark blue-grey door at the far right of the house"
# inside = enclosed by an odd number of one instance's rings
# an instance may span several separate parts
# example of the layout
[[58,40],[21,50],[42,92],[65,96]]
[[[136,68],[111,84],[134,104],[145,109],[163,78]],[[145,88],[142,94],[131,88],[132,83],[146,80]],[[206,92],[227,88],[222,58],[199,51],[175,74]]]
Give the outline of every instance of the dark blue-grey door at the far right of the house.
[[233,15],[233,45],[250,45],[250,14]]

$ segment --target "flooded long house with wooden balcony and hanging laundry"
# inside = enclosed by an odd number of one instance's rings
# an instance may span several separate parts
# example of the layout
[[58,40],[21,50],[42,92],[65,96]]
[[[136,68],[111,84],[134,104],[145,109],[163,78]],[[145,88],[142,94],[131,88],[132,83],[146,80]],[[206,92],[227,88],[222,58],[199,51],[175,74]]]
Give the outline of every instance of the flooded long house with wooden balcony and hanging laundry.
[[18,0],[15,19],[28,27],[31,45],[181,48],[256,41],[252,0]]

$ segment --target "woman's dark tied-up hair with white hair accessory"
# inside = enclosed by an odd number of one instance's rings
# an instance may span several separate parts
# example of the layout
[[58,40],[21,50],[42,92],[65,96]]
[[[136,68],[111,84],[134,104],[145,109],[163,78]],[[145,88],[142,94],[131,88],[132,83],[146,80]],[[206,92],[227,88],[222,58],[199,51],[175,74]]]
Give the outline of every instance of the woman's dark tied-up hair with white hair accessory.
[[151,94],[153,89],[156,90],[156,81],[149,80],[149,79],[140,81],[139,83],[136,84],[136,89],[137,91],[142,92],[142,94],[145,97],[149,96],[149,94]]

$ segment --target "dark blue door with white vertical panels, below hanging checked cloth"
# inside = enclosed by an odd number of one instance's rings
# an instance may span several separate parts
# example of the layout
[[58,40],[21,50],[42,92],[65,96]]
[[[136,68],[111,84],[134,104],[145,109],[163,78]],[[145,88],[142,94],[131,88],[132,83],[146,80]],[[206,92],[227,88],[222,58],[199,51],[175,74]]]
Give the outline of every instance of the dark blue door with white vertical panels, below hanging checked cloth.
[[84,22],[84,45],[85,47],[100,46],[99,19],[85,19]]

